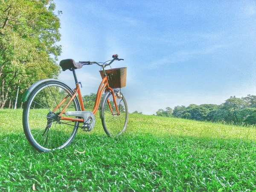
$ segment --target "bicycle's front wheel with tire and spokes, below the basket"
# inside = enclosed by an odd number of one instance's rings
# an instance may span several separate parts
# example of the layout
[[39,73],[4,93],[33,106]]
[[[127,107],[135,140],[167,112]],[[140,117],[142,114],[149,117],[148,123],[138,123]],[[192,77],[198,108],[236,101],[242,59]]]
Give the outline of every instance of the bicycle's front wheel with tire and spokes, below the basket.
[[102,98],[102,126],[105,133],[110,137],[122,134],[128,123],[128,107],[123,94],[115,90],[116,103],[119,114],[117,113],[111,92],[105,93]]

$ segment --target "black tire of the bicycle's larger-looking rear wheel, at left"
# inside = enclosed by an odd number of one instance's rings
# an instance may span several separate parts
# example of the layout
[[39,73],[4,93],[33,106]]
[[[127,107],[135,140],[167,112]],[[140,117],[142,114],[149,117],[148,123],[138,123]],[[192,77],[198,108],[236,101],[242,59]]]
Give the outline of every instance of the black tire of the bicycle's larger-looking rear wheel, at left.
[[[28,126],[28,122],[27,122],[27,120],[28,120],[28,111],[29,111],[29,104],[30,104],[31,100],[33,99],[35,93],[37,93],[37,91],[40,90],[41,87],[44,87],[45,85],[51,85],[51,84],[61,85],[61,86],[65,87],[67,90],[69,90],[70,93],[72,93],[72,94],[74,93],[73,90],[70,87],[68,87],[66,84],[61,83],[59,81],[47,81],[47,82],[43,82],[41,84],[38,84],[38,86],[35,87],[35,89],[32,90],[32,92],[30,93],[27,101],[24,104],[24,108],[23,108],[23,115],[22,115],[23,131],[24,131],[24,133],[26,135],[26,138],[29,141],[30,145],[32,145],[32,147],[35,148],[39,152],[49,152],[49,151],[52,151],[52,150],[45,150],[44,148],[39,146],[37,143],[35,143],[35,141],[32,139],[33,136],[30,134],[29,126]],[[78,99],[76,97],[74,98],[74,101],[75,101],[75,103],[77,105],[77,109],[76,110],[77,111],[81,111]],[[79,123],[78,123],[78,125],[79,125]],[[69,143],[67,143],[66,145],[64,145],[61,148],[64,148],[67,145],[70,145],[70,143],[74,140],[74,138],[76,137],[77,130],[78,130],[78,125],[76,125],[75,132],[73,133],[73,136],[72,136],[71,140],[69,141]]]

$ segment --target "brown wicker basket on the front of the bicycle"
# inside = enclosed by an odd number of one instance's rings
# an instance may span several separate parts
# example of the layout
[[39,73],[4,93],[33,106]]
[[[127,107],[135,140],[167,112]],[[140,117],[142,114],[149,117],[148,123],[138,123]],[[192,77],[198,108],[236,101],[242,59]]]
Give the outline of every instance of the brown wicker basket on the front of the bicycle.
[[[99,71],[99,73],[103,79],[103,71]],[[105,70],[105,73],[108,75],[108,84],[110,87],[122,88],[126,86],[127,67]]]

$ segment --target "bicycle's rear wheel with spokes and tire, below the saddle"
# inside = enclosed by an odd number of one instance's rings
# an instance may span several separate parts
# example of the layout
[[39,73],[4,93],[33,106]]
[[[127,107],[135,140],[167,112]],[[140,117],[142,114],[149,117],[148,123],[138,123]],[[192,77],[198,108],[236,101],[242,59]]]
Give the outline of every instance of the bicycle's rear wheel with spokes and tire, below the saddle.
[[[61,120],[59,114],[73,96],[73,90],[59,81],[39,84],[29,95],[23,110],[23,129],[29,143],[38,151],[48,152],[69,145],[79,122]],[[75,97],[66,111],[79,111]]]

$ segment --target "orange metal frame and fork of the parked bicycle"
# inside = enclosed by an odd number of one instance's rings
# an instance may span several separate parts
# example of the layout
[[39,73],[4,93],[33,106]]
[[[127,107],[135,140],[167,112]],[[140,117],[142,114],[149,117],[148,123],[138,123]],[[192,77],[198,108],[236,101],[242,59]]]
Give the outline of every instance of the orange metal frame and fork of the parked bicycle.
[[[113,101],[114,101],[114,104],[115,104],[115,107],[116,107],[116,111],[117,111],[117,114],[119,114],[119,110],[118,110],[118,107],[117,107],[117,103],[116,103],[116,96],[114,94],[114,91],[111,87],[109,87],[108,85],[108,76],[105,76],[101,83],[99,84],[99,88],[98,88],[98,91],[97,91],[97,95],[96,95],[96,100],[95,100],[95,104],[94,104],[94,108],[92,110],[93,114],[95,115],[96,112],[98,111],[98,108],[99,108],[99,103],[100,103],[100,100],[101,100],[101,96],[102,96],[102,93],[103,91],[105,90],[105,92],[107,90],[110,90],[111,93],[112,93],[112,96],[113,96]],[[60,116],[65,113],[65,110],[67,109],[67,107],[70,105],[70,103],[73,101],[73,99],[76,97],[76,95],[78,94],[78,97],[79,97],[79,103],[81,105],[81,111],[85,111],[84,109],[84,102],[83,102],[83,99],[82,99],[82,95],[81,95],[81,90],[80,90],[80,86],[79,86],[79,83],[76,83],[76,88],[73,90],[74,91],[74,94],[73,96],[70,98],[70,100],[67,102],[67,105],[65,105],[65,107],[62,109],[61,113],[59,114]],[[67,95],[56,107],[55,109],[52,111],[52,112],[55,112],[58,108],[61,107],[61,105],[67,100],[67,98],[69,97],[69,95]],[[113,113],[113,109],[111,108],[111,104],[109,102],[109,99],[108,99],[108,106],[111,110],[111,112]],[[66,117],[66,116],[61,116],[62,120],[69,120],[69,121],[79,121],[79,122],[84,122],[84,119],[78,119],[78,118],[71,118],[71,117]]]

